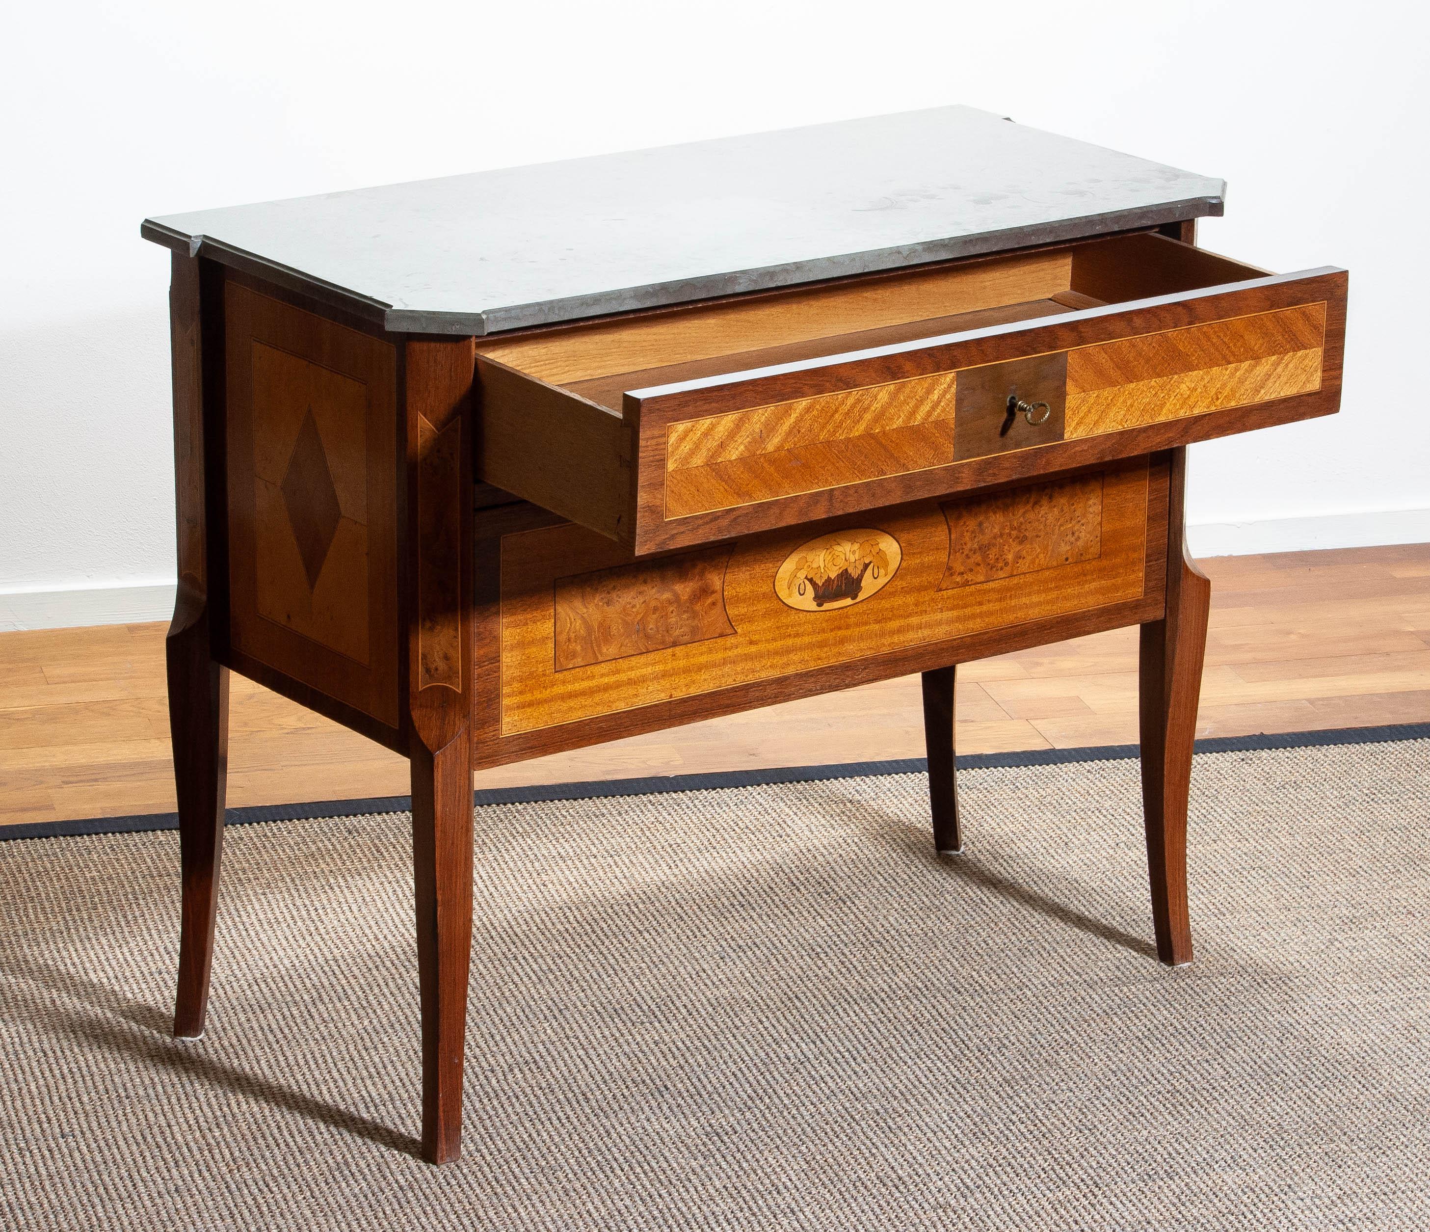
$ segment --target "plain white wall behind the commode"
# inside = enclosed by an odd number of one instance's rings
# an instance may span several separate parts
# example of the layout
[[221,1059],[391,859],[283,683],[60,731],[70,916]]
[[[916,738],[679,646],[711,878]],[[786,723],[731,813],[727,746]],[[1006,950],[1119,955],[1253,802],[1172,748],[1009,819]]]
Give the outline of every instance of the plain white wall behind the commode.
[[[1200,551],[1430,538],[1421,4],[80,0],[0,31],[0,621],[172,581],[144,215],[950,102],[1224,176],[1205,246],[1351,270],[1343,414],[1197,446]],[[157,590],[54,594],[110,585]]]

